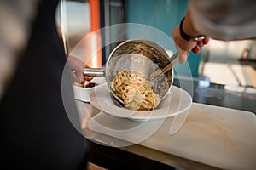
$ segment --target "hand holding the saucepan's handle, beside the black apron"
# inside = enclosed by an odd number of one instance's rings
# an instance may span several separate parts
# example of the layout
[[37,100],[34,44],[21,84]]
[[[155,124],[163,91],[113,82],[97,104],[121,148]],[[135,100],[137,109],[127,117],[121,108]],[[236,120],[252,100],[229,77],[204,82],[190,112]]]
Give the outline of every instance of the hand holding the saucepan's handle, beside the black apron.
[[76,57],[71,55],[67,56],[67,63],[69,67],[72,69],[73,73],[73,81],[79,84],[84,84],[85,81],[91,81],[93,77],[84,76],[84,68],[88,68],[84,62]]

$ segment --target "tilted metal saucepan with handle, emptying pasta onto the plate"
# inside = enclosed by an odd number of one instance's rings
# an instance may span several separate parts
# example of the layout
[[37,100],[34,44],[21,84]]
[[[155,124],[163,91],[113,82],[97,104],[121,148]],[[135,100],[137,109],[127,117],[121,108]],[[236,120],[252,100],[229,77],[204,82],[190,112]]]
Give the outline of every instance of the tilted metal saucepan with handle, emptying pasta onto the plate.
[[90,69],[86,68],[84,75],[105,76],[108,88],[114,94],[111,82],[119,71],[144,74],[148,78],[154,93],[159,94],[160,99],[164,99],[172,87],[172,65],[176,62],[177,54],[170,61],[166,51],[157,43],[144,39],[135,39],[122,42],[113,49],[108,57],[105,71],[93,68],[90,72]]

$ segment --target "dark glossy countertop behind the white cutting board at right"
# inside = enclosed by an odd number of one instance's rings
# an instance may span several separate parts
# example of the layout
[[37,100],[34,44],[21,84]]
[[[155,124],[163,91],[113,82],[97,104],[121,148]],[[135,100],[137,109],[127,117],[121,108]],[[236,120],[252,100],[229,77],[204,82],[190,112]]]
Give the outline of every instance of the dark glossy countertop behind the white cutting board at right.
[[[173,84],[180,87],[180,82],[186,84],[191,81],[186,79],[178,81],[175,78]],[[193,91],[191,96],[193,96],[193,102],[195,103],[251,111],[256,114],[256,88],[232,87],[197,79],[193,81]]]

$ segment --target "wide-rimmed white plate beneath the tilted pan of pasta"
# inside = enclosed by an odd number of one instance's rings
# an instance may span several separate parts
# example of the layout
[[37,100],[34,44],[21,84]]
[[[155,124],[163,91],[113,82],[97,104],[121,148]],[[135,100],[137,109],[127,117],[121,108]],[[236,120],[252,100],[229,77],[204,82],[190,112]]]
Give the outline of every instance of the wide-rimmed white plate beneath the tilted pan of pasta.
[[192,105],[192,98],[182,88],[172,86],[166,98],[153,111],[131,111],[115,105],[111,99],[107,84],[104,84],[90,94],[90,104],[111,116],[125,117],[133,121],[142,122],[176,116],[183,113],[183,111],[188,111]]

